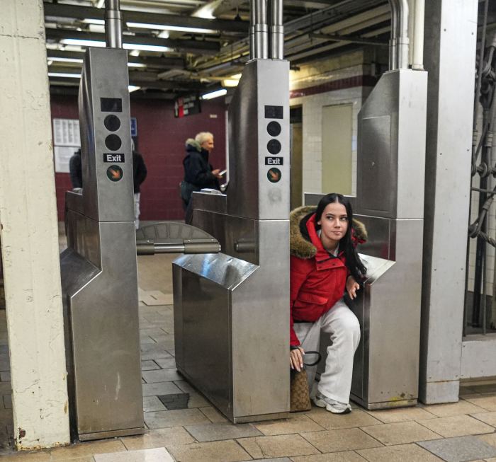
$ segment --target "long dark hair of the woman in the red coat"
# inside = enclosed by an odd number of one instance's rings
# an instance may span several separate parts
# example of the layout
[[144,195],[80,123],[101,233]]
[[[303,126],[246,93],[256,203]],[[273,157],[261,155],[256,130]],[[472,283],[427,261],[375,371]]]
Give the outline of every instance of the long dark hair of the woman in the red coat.
[[319,230],[321,226],[317,224],[320,221],[322,214],[324,213],[325,207],[332,204],[333,202],[339,202],[343,204],[346,209],[346,215],[348,215],[348,229],[346,229],[346,234],[339,241],[339,246],[344,250],[344,258],[346,258],[346,267],[348,267],[351,275],[359,282],[366,273],[366,267],[360,260],[358,253],[354,248],[353,242],[351,241],[351,228],[353,226],[353,210],[351,209],[351,204],[349,200],[344,197],[344,195],[338,194],[337,192],[332,192],[327,194],[320,202],[317,204],[317,210],[315,211],[315,229]]

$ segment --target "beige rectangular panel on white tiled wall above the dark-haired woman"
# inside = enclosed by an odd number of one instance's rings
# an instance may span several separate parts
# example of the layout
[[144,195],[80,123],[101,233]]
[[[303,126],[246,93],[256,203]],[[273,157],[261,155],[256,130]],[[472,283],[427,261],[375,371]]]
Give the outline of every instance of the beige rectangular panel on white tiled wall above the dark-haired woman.
[[322,192],[351,195],[351,104],[322,108]]

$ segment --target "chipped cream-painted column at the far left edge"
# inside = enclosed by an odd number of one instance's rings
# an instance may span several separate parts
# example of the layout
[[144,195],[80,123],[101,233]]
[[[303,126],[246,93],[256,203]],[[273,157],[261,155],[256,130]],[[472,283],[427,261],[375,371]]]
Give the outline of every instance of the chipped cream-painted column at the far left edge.
[[18,449],[69,442],[42,0],[2,0],[0,237]]

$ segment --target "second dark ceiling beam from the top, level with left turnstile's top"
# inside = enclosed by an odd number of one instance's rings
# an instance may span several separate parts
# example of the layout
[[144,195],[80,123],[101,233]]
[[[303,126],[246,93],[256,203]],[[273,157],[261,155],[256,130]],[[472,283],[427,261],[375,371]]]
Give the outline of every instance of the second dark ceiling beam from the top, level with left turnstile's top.
[[[99,40],[105,42],[105,34],[96,32],[79,32],[72,29],[46,29],[47,39],[61,40],[63,38],[75,38],[81,40]],[[216,54],[220,50],[217,42],[207,40],[173,40],[170,38],[142,37],[140,35],[123,35],[123,43],[135,43],[140,45],[159,45],[169,47],[176,51],[190,52],[196,54]]]

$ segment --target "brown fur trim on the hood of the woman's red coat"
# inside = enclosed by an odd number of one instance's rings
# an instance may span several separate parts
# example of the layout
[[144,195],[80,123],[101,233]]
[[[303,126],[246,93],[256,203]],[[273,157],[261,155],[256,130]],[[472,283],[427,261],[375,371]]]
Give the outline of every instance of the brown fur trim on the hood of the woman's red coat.
[[[300,231],[300,221],[315,210],[317,210],[316,205],[303,205],[289,214],[290,253],[295,257],[308,259],[315,257],[317,253],[317,248],[310,241],[307,241]],[[361,221],[353,219],[353,231],[357,241],[367,240],[367,230]]]

